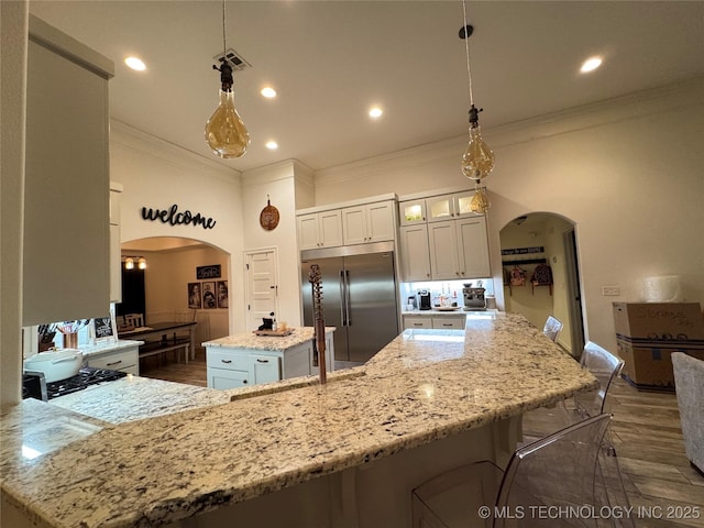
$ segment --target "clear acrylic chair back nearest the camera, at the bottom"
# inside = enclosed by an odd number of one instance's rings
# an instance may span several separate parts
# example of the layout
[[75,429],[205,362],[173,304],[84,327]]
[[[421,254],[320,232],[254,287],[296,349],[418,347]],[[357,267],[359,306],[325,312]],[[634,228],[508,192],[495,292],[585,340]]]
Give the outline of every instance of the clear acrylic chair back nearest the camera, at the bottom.
[[603,483],[597,459],[610,418],[587,418],[518,449],[504,472],[495,512],[522,512],[524,518],[497,516],[494,527],[600,526],[600,519],[585,518],[580,508],[598,504],[596,492]]

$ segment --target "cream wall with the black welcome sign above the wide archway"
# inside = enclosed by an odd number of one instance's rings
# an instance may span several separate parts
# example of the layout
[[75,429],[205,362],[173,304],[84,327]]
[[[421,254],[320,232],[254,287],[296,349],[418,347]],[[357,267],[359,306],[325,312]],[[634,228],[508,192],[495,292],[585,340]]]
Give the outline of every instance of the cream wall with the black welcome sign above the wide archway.
[[[110,179],[123,185],[121,240],[184,237],[200,240],[231,255],[227,270],[230,286],[229,327],[231,332],[242,331],[243,205],[239,172],[114,121],[111,123],[110,148]],[[194,215],[199,212],[215,219],[213,229],[190,224],[170,226],[142,218],[142,207],[168,209],[174,204],[179,211],[189,210]],[[193,267],[193,263],[187,266]],[[194,282],[195,268],[191,272],[190,282]],[[184,280],[185,276],[174,277],[170,285],[173,290],[185,290]],[[162,308],[153,309],[161,311]]]

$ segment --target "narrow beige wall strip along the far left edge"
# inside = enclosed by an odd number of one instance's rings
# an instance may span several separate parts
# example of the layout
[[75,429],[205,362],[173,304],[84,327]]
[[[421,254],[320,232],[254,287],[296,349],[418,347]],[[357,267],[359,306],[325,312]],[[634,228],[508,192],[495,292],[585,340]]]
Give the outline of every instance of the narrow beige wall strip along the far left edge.
[[0,2],[0,405],[21,398],[24,116],[29,2]]

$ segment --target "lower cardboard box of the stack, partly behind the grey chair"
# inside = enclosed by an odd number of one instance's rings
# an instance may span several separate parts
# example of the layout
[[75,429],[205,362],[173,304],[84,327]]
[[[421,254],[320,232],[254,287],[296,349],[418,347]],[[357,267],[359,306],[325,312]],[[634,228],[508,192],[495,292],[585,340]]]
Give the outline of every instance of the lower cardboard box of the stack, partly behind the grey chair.
[[674,391],[672,352],[684,352],[704,361],[704,340],[616,340],[618,355],[626,363],[623,376],[638,388]]

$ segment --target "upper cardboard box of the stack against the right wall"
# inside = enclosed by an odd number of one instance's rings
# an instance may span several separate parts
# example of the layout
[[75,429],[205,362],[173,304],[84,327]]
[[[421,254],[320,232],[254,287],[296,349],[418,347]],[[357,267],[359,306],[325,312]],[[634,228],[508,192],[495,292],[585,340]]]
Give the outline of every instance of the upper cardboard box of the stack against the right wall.
[[614,302],[616,338],[649,340],[704,339],[698,302]]

